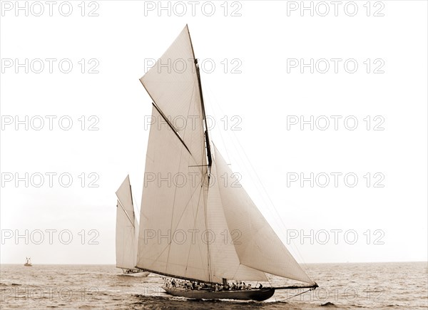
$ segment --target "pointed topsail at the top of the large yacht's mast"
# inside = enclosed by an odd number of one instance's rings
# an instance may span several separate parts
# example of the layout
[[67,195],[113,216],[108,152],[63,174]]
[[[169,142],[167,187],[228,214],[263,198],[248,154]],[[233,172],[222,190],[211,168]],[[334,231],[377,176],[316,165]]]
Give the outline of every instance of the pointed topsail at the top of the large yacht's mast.
[[140,81],[180,135],[196,165],[204,165],[203,110],[187,26]]

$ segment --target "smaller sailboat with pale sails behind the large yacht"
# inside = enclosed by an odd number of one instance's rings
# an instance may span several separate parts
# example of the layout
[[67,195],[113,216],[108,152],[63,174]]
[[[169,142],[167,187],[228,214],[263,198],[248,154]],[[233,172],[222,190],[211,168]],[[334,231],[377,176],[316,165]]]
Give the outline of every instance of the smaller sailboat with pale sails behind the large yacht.
[[[116,267],[125,274],[142,273],[137,269],[138,220],[136,219],[129,175],[116,192]],[[148,275],[148,272],[140,276]]]

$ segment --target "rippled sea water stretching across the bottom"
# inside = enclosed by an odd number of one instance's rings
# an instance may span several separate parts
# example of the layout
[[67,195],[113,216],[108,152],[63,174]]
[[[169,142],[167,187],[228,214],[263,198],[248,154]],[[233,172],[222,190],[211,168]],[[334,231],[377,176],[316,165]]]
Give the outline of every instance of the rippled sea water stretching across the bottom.
[[[165,294],[156,274],[125,275],[112,265],[2,264],[0,309],[428,309],[427,268],[427,262],[307,264],[320,286],[314,291],[277,290],[267,301],[198,301]],[[270,283],[282,286],[284,279]]]

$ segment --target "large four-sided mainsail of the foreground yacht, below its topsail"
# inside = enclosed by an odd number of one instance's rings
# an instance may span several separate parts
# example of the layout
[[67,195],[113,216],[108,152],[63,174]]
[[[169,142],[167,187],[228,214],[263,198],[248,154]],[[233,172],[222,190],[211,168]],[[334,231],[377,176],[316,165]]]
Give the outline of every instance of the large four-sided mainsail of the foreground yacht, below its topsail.
[[[154,107],[153,116],[161,116]],[[207,245],[201,242],[200,233],[195,242],[188,238],[194,229],[205,230],[205,171],[206,167],[198,165],[173,130],[165,125],[151,126],[141,201],[138,267],[211,280]]]

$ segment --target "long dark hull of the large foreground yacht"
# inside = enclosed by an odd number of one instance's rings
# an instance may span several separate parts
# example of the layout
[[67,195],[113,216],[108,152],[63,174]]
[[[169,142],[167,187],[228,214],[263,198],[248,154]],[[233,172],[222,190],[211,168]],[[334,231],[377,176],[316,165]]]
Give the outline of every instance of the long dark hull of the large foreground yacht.
[[208,291],[208,290],[186,290],[176,287],[165,287],[165,291],[173,296],[194,298],[194,299],[238,299],[263,301],[272,297],[275,289],[248,289],[243,291]]

